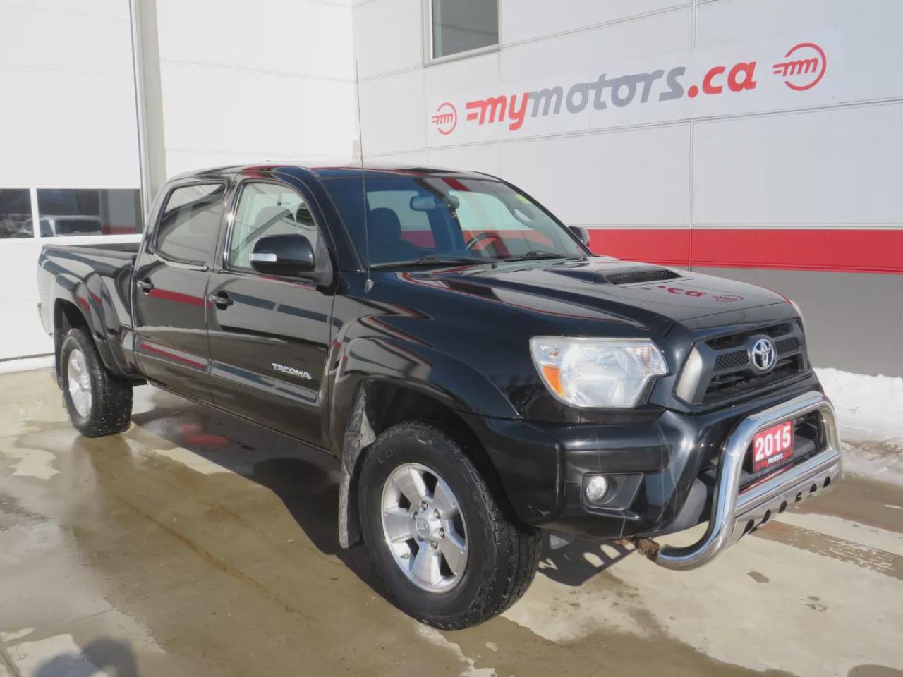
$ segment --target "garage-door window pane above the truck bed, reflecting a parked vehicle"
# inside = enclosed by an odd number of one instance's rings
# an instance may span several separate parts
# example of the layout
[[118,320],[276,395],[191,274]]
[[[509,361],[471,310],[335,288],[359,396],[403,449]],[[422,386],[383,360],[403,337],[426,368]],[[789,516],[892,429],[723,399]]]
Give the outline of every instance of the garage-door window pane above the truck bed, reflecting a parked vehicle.
[[42,237],[140,233],[141,192],[41,188],[38,213]]

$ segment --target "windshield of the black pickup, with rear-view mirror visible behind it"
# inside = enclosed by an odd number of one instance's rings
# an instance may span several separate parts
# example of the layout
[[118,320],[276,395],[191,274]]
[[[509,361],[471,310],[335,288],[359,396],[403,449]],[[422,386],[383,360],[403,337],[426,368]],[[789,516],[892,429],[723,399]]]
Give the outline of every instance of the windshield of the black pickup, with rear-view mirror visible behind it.
[[367,176],[365,187],[359,176],[323,183],[361,259],[373,267],[585,256],[544,209],[500,181],[377,175]]

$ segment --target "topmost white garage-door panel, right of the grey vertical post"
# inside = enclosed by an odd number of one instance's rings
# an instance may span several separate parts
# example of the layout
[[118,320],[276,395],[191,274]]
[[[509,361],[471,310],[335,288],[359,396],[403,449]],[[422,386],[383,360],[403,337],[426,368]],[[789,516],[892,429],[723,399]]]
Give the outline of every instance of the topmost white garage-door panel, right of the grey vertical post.
[[350,13],[313,0],[158,0],[160,56],[354,79]]

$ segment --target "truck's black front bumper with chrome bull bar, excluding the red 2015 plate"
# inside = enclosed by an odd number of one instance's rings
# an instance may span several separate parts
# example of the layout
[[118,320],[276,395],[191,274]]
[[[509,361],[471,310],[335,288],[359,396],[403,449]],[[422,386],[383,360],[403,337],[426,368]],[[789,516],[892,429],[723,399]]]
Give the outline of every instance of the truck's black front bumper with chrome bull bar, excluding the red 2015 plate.
[[[743,462],[752,437],[788,419],[795,421],[795,458],[753,475]],[[467,420],[520,521],[638,543],[651,559],[675,569],[712,559],[773,515],[833,486],[841,472],[833,407],[814,376],[730,407],[697,414],[666,410],[645,422]],[[604,505],[591,505],[583,494],[583,482],[593,474],[616,487]],[[709,530],[691,548],[651,540],[703,522]]]

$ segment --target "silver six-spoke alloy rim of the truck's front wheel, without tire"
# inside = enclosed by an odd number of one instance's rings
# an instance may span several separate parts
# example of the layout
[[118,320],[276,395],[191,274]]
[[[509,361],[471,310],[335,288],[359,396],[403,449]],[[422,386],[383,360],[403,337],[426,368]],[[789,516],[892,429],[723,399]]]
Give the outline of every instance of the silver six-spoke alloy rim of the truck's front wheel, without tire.
[[446,592],[467,566],[467,528],[458,499],[435,470],[405,463],[383,486],[383,535],[407,577],[429,592]]

